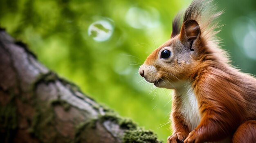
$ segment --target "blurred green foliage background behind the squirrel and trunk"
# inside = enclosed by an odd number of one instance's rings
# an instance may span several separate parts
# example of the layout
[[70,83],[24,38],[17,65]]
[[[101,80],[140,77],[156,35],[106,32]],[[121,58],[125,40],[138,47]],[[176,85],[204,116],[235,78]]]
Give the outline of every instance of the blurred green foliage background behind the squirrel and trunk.
[[[100,103],[166,140],[171,90],[157,89],[137,71],[169,39],[175,14],[191,0],[0,0],[0,26],[27,43],[40,62]],[[215,0],[225,24],[218,34],[232,64],[256,73],[256,1]],[[94,25],[110,34],[97,41]],[[94,29],[95,30],[95,29]],[[90,32],[94,32],[91,35]],[[112,33],[112,34],[111,34]],[[142,80],[142,81],[141,81]]]

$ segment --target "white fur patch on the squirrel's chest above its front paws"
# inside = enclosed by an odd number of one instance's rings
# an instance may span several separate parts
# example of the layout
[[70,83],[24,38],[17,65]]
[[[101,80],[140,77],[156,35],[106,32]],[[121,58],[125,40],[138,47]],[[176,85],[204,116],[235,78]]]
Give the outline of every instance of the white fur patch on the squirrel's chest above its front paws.
[[178,94],[181,99],[180,112],[184,116],[186,124],[192,131],[198,126],[201,120],[198,110],[198,100],[196,99],[190,84],[185,84],[182,89],[178,91]]

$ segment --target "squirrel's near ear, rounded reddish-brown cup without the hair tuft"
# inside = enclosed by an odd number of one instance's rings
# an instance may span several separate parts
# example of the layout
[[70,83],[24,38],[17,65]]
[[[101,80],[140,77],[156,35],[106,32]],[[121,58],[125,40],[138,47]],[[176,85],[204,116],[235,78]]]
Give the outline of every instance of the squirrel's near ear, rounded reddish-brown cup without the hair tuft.
[[182,24],[180,39],[182,41],[193,41],[200,36],[200,27],[195,20],[187,20]]

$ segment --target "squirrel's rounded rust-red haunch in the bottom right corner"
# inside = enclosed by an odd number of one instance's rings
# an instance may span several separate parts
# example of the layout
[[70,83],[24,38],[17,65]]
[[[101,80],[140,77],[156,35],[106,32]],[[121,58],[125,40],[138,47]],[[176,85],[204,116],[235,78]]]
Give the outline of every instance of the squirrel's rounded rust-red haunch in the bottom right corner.
[[234,133],[232,143],[256,143],[256,120],[242,123]]

